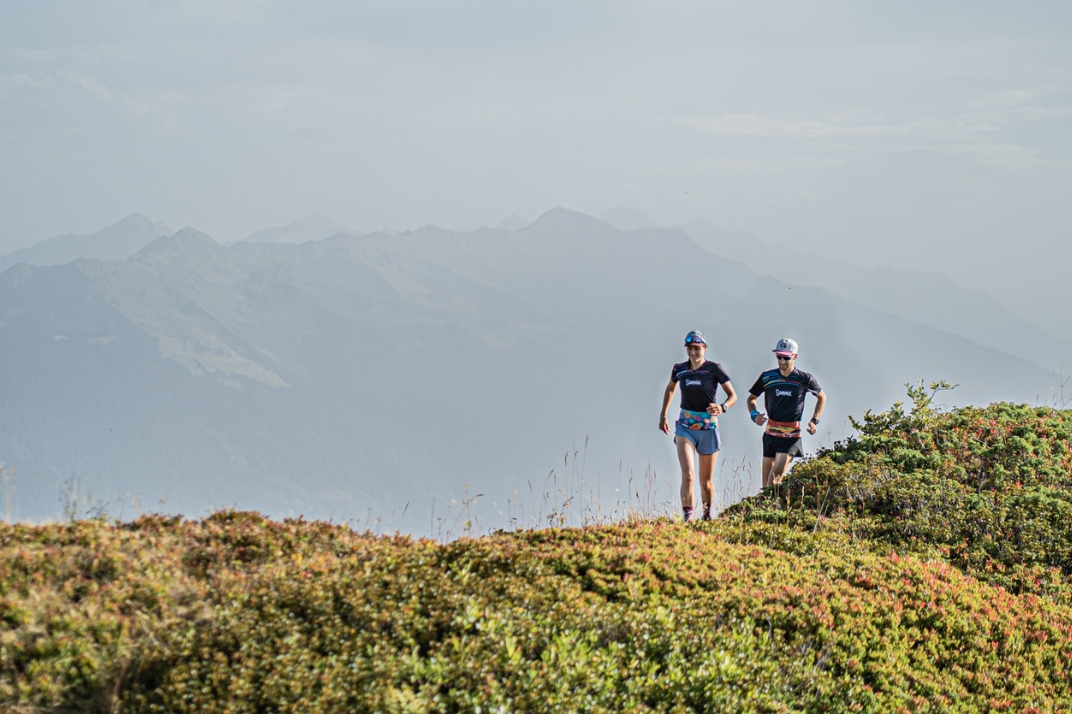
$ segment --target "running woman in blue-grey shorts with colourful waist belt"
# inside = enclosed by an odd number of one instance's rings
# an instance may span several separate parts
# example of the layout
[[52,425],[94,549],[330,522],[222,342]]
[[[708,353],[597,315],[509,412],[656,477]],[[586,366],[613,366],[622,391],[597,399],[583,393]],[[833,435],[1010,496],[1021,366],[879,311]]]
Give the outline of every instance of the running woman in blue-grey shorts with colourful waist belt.
[[[678,445],[678,461],[681,463],[681,509],[686,521],[693,520],[693,509],[696,503],[693,494],[693,480],[696,477],[696,457],[700,461],[700,499],[703,501],[703,520],[711,520],[711,499],[715,486],[715,463],[718,461],[718,448],[721,441],[718,437],[718,415],[726,414],[736,402],[730,377],[718,362],[704,359],[708,343],[703,333],[693,330],[685,336],[685,352],[688,359],[673,366],[670,370],[670,382],[662,392],[662,411],[659,415],[659,429],[670,433],[670,421],[667,412],[673,392],[681,384],[681,416],[674,426],[674,444]],[[716,403],[715,392],[718,385],[726,392],[726,401]]]

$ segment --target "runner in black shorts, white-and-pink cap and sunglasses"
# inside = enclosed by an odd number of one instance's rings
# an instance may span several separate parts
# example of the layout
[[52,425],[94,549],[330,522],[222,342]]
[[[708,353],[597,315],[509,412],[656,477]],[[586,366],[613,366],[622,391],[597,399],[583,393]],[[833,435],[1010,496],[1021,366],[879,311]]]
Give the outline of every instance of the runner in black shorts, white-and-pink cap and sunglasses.
[[[759,375],[748,390],[748,412],[763,432],[763,488],[780,484],[793,457],[804,456],[801,417],[804,398],[815,395],[815,413],[807,422],[807,433],[814,434],[827,405],[827,395],[816,378],[796,369],[796,343],[789,338],[778,340],[772,351],[778,358],[778,369]],[[766,414],[756,408],[756,399],[763,395]]]

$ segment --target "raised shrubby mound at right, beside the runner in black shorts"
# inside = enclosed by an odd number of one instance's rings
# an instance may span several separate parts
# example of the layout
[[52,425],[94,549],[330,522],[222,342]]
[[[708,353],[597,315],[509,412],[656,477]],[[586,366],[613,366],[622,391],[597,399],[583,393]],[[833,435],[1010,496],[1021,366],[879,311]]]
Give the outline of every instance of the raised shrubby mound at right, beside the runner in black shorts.
[[1068,600],[1072,413],[1004,403],[938,412],[914,396],[910,412],[867,413],[857,436],[727,518],[834,530]]

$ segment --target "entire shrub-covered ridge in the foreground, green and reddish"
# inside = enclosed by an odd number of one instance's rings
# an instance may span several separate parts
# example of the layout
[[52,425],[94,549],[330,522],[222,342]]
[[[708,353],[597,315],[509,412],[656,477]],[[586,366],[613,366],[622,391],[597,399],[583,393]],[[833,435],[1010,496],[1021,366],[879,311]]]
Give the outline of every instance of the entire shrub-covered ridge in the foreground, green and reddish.
[[1072,711],[1069,427],[920,398],[714,523],[3,527],[0,710]]

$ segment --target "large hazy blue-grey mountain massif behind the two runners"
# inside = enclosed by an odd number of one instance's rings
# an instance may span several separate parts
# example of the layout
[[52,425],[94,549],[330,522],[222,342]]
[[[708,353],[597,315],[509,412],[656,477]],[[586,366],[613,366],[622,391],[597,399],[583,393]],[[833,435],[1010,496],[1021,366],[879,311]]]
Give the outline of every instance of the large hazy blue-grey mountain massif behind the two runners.
[[[604,501],[651,481],[669,503],[675,457],[656,417],[689,329],[742,398],[778,338],[800,342],[830,396],[808,449],[906,382],[958,383],[957,403],[1048,393],[1052,374],[1023,355],[706,242],[555,209],[516,230],[301,243],[185,228],[125,259],[16,265],[0,273],[15,515],[55,517],[74,497],[113,512],[404,511],[403,530],[427,531],[477,494],[505,524],[507,501],[531,509],[567,477]],[[755,490],[743,403],[723,431],[719,492]]]

